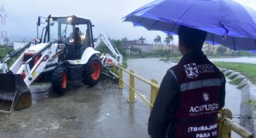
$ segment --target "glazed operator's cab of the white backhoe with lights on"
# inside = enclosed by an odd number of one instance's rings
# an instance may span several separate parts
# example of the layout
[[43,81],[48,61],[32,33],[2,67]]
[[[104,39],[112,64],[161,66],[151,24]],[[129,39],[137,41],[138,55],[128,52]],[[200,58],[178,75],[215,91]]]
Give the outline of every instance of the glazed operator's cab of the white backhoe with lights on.
[[[38,19],[38,25],[40,25]],[[66,44],[66,59],[81,59],[87,47],[94,47],[92,23],[89,19],[79,16],[48,16],[45,36],[41,41],[58,41]],[[42,40],[43,38],[43,40]]]

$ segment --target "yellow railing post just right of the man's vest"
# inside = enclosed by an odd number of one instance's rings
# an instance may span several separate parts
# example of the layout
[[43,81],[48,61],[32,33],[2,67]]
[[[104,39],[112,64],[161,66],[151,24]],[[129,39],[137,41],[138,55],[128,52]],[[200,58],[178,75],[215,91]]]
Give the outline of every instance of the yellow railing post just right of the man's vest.
[[[219,113],[225,116],[228,116],[229,119],[232,119],[232,113],[228,109],[219,110]],[[230,138],[231,137],[231,128],[224,125],[219,121],[219,137],[220,138]]]

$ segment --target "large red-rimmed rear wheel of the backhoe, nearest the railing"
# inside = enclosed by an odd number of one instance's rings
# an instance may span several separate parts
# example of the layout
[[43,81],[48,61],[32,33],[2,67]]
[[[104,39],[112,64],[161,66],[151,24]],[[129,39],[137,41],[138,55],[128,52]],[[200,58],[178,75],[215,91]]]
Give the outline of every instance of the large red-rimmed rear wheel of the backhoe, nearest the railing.
[[84,65],[83,71],[83,83],[88,86],[95,86],[99,82],[101,77],[101,59],[93,55],[86,65]]

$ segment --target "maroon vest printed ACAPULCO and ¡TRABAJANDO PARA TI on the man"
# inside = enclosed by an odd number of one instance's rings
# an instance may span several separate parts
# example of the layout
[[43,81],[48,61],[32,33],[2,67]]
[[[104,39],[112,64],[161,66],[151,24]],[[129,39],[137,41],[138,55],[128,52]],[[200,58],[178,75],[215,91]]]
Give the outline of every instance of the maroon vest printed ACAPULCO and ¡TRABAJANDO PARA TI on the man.
[[184,56],[170,71],[180,85],[175,137],[218,137],[222,73],[201,53]]

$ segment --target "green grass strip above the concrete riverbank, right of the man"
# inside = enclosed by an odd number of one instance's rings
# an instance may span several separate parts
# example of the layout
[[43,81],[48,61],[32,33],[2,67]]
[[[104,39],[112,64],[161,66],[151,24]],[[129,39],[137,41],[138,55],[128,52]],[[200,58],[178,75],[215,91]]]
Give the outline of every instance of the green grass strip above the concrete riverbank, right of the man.
[[[252,83],[256,84],[256,64],[249,63],[234,63],[234,62],[214,62],[217,67],[228,68],[229,70],[237,71]],[[226,74],[227,75],[227,74]]]

